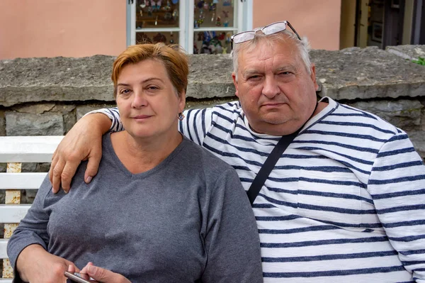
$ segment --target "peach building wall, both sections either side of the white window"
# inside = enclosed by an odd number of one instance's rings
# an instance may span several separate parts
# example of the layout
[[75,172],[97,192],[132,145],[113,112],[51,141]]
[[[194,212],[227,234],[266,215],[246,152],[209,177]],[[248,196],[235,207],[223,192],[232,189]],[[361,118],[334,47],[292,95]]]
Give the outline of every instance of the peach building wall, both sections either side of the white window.
[[[239,0],[234,0],[239,1]],[[253,26],[288,20],[314,49],[338,50],[341,0],[251,0]],[[0,60],[118,55],[127,0],[0,0]]]

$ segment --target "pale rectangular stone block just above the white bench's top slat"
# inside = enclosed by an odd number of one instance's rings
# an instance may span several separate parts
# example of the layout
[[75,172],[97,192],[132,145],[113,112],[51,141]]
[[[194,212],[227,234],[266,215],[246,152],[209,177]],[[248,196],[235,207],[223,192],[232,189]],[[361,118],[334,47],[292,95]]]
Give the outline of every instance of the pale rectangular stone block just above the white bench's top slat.
[[7,135],[63,135],[64,123],[60,114],[6,112]]

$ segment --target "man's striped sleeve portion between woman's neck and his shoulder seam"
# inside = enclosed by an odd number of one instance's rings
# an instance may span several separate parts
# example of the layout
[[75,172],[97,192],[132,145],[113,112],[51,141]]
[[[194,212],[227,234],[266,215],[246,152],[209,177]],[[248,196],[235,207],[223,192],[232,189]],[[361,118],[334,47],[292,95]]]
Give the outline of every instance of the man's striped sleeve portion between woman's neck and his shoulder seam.
[[179,122],[179,131],[198,145],[203,145],[205,135],[211,126],[213,109],[189,109],[183,112],[185,118]]

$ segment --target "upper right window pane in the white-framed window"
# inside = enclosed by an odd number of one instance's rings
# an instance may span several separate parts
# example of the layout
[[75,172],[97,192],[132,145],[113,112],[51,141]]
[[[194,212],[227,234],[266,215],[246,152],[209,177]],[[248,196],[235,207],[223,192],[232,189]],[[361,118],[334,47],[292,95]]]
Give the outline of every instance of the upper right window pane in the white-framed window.
[[194,27],[233,27],[234,6],[237,0],[193,0],[195,3]]

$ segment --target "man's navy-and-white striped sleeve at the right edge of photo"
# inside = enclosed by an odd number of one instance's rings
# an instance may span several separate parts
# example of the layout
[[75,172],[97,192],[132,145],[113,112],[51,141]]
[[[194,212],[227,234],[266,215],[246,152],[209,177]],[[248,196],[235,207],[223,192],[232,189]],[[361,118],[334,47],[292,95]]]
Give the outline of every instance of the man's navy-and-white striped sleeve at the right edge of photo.
[[380,148],[368,190],[404,268],[425,282],[425,166],[406,133]]

